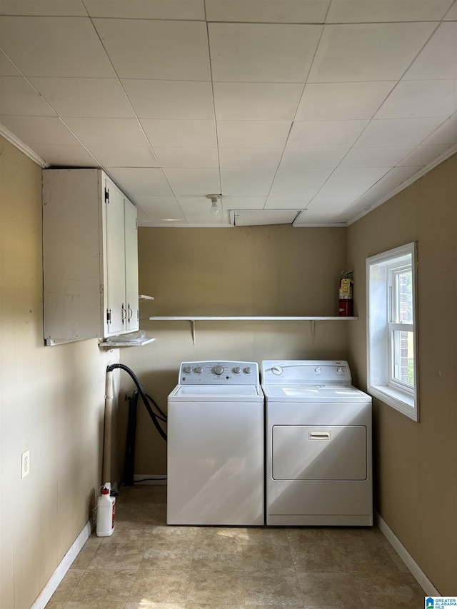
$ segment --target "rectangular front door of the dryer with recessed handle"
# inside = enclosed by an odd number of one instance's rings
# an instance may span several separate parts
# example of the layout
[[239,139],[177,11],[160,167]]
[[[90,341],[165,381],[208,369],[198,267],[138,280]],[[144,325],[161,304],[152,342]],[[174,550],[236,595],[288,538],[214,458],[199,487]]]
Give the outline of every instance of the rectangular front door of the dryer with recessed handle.
[[365,480],[366,463],[365,426],[273,426],[273,480]]

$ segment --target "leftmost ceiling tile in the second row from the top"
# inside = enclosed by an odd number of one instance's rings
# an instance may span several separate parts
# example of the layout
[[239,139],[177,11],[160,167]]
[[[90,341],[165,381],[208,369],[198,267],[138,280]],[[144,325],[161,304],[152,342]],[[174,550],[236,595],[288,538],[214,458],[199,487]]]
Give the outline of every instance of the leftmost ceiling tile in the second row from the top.
[[25,76],[115,76],[84,17],[0,17],[1,46]]

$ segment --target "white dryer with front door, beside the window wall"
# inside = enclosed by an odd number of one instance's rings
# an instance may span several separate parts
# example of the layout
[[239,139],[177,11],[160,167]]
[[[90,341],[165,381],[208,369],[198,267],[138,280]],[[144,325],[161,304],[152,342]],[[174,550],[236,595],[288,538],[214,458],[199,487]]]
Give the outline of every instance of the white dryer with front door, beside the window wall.
[[266,524],[373,525],[371,397],[346,361],[263,361]]

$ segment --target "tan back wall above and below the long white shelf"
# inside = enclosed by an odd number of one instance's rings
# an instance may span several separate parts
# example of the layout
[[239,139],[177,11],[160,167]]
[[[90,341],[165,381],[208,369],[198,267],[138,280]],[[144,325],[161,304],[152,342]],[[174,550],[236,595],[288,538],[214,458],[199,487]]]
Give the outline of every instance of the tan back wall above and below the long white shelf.
[[[156,341],[125,349],[121,361],[161,408],[178,381],[181,361],[347,356],[353,321],[316,322],[314,344],[309,321],[200,321],[195,345],[189,321],[148,321],[151,315],[186,314],[335,316],[346,268],[345,228],[140,228],[139,264],[140,292],[156,299],[140,305],[141,328]],[[131,391],[128,377],[121,383]],[[124,436],[127,406],[120,407]],[[135,473],[166,473],[165,443],[143,407]]]

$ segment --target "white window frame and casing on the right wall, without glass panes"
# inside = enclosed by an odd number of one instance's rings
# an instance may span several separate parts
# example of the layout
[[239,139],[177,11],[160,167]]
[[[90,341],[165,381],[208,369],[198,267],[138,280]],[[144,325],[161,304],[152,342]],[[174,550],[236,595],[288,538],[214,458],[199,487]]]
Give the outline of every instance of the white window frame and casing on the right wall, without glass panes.
[[[396,294],[392,278],[411,268],[412,323],[393,318]],[[419,420],[416,243],[366,258],[368,393],[397,411]],[[412,332],[414,383],[393,377],[393,331]]]

